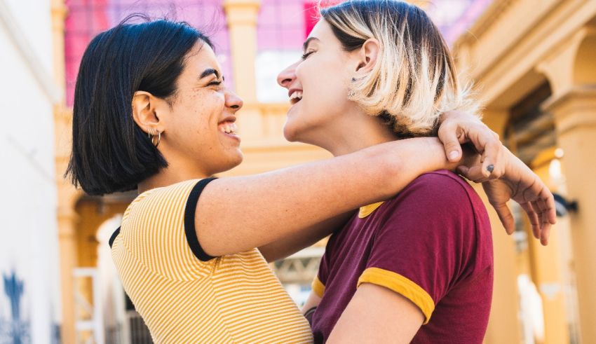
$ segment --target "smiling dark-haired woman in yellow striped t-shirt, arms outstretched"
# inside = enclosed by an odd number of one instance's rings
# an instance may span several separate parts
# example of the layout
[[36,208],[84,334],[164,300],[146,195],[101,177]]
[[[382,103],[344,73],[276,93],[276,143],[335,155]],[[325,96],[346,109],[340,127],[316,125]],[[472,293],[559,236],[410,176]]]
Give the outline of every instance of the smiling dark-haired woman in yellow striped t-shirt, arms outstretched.
[[[76,81],[67,173],[92,195],[139,192],[110,245],[156,343],[309,343],[308,322],[266,261],[311,245],[419,174],[458,163],[424,137],[212,178],[243,158],[235,124],[243,103],[223,78],[208,37],[184,23],[124,22],[99,34]],[[449,151],[461,157],[458,139],[469,139],[483,152],[482,164],[466,159],[468,176],[504,176],[541,199],[543,184],[510,163],[479,121],[451,113],[443,125]],[[505,193],[496,207],[515,196]],[[546,238],[548,223],[542,231]]]

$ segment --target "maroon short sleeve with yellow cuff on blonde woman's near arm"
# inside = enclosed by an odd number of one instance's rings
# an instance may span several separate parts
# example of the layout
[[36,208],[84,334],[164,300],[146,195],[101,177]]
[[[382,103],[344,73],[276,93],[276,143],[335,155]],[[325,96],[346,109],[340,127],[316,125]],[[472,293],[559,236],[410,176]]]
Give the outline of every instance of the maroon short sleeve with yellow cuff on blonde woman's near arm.
[[463,181],[424,174],[384,207],[366,268],[358,280],[391,289],[423,312],[435,305],[470,264],[475,216]]

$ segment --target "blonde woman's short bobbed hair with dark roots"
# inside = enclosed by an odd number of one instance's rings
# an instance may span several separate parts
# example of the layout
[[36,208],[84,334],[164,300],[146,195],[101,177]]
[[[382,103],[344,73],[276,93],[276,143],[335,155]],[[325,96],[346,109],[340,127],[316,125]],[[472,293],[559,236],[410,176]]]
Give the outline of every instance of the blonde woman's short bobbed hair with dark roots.
[[386,118],[396,134],[435,135],[441,113],[478,112],[469,86],[459,85],[447,43],[420,8],[396,0],[349,0],[319,11],[344,50],[379,41],[377,62],[353,80],[349,99]]

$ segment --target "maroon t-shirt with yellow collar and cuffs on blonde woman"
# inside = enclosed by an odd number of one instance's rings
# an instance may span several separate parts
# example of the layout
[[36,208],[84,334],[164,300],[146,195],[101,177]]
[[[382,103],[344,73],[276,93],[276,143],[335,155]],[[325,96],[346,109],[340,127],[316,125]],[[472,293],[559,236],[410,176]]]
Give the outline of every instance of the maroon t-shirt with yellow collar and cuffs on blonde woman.
[[323,297],[312,318],[315,343],[327,340],[362,283],[420,308],[425,320],[412,343],[482,343],[492,282],[485,205],[456,174],[423,174],[395,198],[361,208],[330,238],[313,282]]

